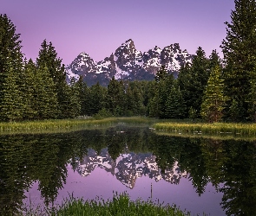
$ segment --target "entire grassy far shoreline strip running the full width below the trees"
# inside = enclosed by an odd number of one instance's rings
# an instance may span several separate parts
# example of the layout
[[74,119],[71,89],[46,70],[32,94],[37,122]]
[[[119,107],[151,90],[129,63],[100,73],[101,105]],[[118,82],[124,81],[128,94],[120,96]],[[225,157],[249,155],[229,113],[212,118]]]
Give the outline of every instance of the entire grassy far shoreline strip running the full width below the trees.
[[84,118],[84,119],[54,119],[43,121],[26,121],[0,123],[0,134],[17,133],[58,133],[83,129],[101,129],[120,124],[144,125],[157,131],[176,133],[177,135],[214,135],[220,137],[255,137],[256,124],[234,123],[203,123],[189,119],[157,119],[146,117],[129,118]]

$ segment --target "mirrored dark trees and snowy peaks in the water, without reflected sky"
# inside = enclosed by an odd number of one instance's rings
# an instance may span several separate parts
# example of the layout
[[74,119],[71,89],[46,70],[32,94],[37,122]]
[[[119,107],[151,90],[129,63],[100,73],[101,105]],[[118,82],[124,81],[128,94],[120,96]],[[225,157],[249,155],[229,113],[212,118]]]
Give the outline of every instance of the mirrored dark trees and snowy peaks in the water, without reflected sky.
[[226,215],[254,215],[255,157],[253,142],[160,136],[147,128],[6,135],[0,137],[0,212],[16,214],[35,181],[45,204],[53,203],[71,164],[84,177],[105,169],[128,188],[143,176],[173,184],[187,177],[200,196],[211,183],[223,193]]

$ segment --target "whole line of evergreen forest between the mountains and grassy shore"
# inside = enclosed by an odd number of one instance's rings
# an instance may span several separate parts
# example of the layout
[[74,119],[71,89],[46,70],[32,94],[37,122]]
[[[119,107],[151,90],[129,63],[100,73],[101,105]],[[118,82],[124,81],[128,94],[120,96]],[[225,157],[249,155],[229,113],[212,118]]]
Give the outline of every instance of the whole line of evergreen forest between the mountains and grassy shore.
[[226,22],[224,59],[198,48],[177,79],[164,66],[152,81],[109,81],[108,87],[66,82],[62,60],[43,41],[36,62],[23,59],[20,35],[0,16],[0,120],[78,116],[203,118],[208,122],[256,120],[256,3],[235,0]]

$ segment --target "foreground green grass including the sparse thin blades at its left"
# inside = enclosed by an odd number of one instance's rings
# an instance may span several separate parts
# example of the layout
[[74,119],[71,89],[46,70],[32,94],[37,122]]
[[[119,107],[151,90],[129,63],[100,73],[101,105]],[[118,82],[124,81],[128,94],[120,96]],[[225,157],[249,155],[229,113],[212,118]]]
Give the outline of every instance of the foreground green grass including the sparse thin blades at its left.
[[[10,214],[11,215],[11,214]],[[169,215],[187,216],[189,212],[181,211],[179,207],[164,205],[164,203],[153,202],[151,200],[131,200],[126,193],[113,195],[111,200],[96,198],[95,200],[75,199],[70,195],[63,200],[60,206],[26,206],[15,215],[20,216],[135,216],[135,215]],[[204,214],[207,215],[207,214]]]

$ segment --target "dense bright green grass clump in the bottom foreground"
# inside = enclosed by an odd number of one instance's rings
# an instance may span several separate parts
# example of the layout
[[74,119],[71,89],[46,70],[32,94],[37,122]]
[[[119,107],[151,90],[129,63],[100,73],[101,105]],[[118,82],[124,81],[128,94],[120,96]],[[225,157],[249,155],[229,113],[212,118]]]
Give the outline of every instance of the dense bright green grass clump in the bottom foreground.
[[56,216],[68,215],[99,215],[99,216],[133,216],[133,215],[189,215],[175,206],[164,206],[150,200],[130,200],[128,194],[115,194],[113,200],[82,200],[71,198],[66,200],[54,214]]

